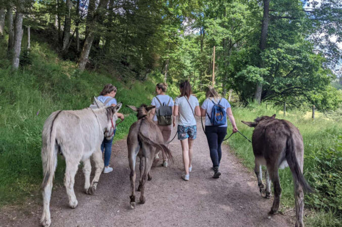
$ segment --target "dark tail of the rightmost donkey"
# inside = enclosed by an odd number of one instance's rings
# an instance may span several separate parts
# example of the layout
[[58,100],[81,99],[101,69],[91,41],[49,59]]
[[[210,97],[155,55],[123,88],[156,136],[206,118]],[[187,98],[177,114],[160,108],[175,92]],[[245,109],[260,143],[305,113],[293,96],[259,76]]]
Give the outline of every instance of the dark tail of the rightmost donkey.
[[291,169],[294,180],[303,187],[304,191],[308,193],[313,193],[314,190],[311,188],[311,186],[308,184],[308,182],[304,178],[304,175],[301,171],[298,160],[295,156],[296,148],[293,143],[292,135],[290,135],[290,137],[287,139],[286,147],[287,147],[286,148],[286,161],[287,161],[288,166]]

